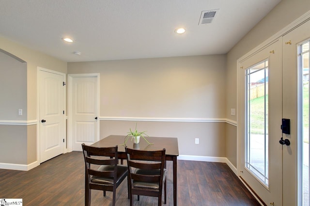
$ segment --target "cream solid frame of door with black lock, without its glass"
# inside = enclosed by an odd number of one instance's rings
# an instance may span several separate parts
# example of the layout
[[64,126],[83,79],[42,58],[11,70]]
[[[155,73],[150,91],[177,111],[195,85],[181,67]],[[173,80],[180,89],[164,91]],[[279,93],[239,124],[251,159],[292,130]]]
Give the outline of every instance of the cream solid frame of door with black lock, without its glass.
[[[298,147],[299,126],[302,125],[299,118],[298,100],[298,45],[310,38],[310,21],[302,24],[293,31],[283,36],[283,118],[291,120],[291,134],[283,134],[283,139],[290,140],[289,146],[283,145],[283,176],[288,177],[283,180],[283,206],[302,206],[298,200],[297,191],[298,179],[298,152],[302,147]],[[300,202],[299,202],[300,201]]]

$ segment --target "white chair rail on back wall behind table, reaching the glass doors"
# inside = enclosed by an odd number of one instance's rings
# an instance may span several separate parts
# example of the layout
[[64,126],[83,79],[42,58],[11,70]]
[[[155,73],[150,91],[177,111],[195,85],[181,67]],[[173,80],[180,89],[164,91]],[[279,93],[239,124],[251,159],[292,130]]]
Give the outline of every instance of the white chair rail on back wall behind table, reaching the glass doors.
[[99,117],[99,120],[142,121],[142,122],[210,122],[228,123],[237,126],[237,122],[225,118],[167,118],[167,117]]

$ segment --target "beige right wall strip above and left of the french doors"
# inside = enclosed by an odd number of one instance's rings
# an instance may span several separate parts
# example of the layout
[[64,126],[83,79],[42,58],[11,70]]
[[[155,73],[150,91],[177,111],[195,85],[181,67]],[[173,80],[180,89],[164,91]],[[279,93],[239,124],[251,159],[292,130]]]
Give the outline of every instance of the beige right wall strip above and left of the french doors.
[[[265,40],[279,32],[285,26],[293,22],[310,10],[309,0],[282,0],[265,16],[246,36],[244,36],[227,54],[227,83],[226,83],[226,117],[237,121],[237,116],[232,116],[230,111],[237,106],[237,60],[259,46]],[[237,152],[237,128],[231,128],[227,133],[226,153],[227,158],[234,162]],[[236,166],[236,165],[235,165]]]

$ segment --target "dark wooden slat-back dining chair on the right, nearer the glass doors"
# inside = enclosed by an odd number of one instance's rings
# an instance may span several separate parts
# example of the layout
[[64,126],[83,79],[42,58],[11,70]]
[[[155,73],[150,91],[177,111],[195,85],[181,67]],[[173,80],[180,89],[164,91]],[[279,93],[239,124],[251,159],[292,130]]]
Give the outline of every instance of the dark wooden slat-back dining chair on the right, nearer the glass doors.
[[133,195],[158,197],[158,206],[162,202],[164,182],[164,203],[167,194],[167,169],[165,169],[166,149],[143,151],[125,147],[130,189],[130,206],[133,206]]

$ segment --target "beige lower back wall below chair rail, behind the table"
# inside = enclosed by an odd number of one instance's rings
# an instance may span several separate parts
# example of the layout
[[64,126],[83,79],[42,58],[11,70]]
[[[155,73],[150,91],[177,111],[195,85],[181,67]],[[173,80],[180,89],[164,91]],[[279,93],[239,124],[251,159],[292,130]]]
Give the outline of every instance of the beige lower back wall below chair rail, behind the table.
[[[138,121],[137,125],[150,137],[177,137],[180,155],[225,157],[225,123]],[[126,135],[135,127],[136,121],[100,121],[100,138]],[[148,140],[152,143],[152,138]]]

